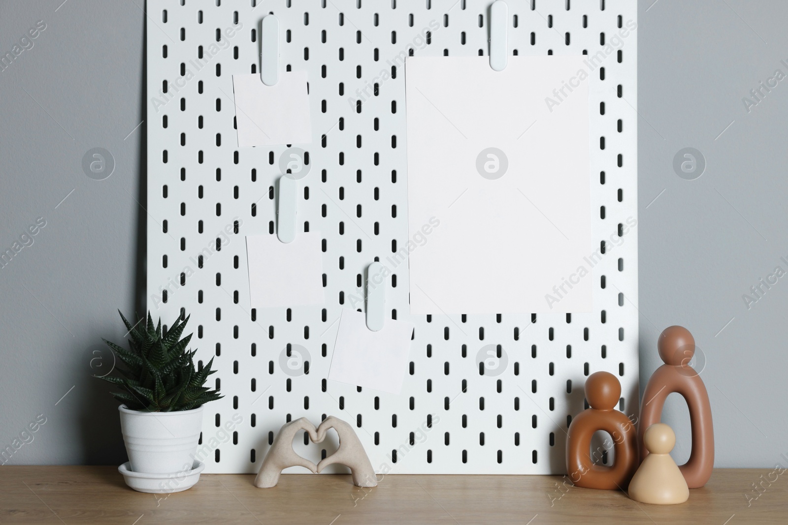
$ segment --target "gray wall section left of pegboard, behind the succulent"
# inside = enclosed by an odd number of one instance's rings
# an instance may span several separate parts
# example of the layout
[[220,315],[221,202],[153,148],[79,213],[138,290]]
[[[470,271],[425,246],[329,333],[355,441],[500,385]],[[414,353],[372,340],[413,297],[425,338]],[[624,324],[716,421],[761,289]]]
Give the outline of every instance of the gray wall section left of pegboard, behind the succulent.
[[[0,54],[46,24],[0,72],[0,247],[46,220],[0,268],[0,448],[43,414],[9,464],[121,464],[117,403],[91,378],[112,357],[92,352],[123,340],[117,309],[133,313],[144,287],[145,126],[128,135],[143,120],[144,14],[62,1],[0,2]],[[108,179],[83,171],[94,147],[114,157]]]

